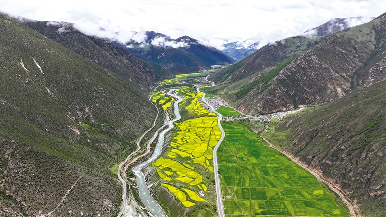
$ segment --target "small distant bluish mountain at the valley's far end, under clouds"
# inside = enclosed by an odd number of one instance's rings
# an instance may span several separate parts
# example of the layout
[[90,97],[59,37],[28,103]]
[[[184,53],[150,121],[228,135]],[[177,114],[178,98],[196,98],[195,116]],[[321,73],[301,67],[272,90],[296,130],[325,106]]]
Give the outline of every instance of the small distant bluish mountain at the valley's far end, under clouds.
[[221,51],[236,61],[240,61],[258,50],[259,42],[255,42],[246,47],[244,45],[245,43],[246,41],[226,43],[223,45],[224,49]]

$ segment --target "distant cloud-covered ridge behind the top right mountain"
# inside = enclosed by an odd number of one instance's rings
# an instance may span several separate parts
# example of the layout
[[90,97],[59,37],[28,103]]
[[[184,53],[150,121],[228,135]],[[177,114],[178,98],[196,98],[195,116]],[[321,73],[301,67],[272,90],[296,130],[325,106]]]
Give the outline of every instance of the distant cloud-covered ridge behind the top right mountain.
[[318,27],[307,30],[306,32],[302,33],[301,36],[312,37],[331,35],[344,29],[370,22],[372,20],[374,20],[374,17],[334,18]]

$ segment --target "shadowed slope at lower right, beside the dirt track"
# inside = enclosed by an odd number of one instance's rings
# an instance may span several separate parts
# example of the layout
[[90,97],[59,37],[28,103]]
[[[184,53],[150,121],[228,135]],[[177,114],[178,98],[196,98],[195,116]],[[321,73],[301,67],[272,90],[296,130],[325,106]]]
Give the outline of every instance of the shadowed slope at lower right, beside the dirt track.
[[[386,64],[385,64],[386,65]],[[386,215],[386,81],[285,117],[263,136],[339,185],[363,216]]]

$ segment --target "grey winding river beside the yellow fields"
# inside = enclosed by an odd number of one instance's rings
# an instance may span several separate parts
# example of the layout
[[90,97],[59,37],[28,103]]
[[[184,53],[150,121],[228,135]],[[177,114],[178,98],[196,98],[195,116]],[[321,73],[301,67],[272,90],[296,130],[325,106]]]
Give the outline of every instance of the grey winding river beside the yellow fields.
[[140,196],[143,204],[150,210],[150,212],[154,216],[157,216],[157,217],[158,216],[165,216],[166,217],[166,214],[162,210],[162,208],[158,204],[158,202],[155,201],[154,198],[150,195],[149,190],[147,189],[145,176],[143,175],[141,170],[144,166],[146,166],[147,164],[151,163],[152,161],[156,160],[159,157],[159,155],[162,152],[162,145],[163,145],[163,141],[165,139],[165,134],[174,127],[173,123],[175,121],[178,121],[181,119],[181,115],[179,114],[178,104],[183,100],[183,98],[180,96],[177,96],[176,94],[172,94],[171,93],[172,91],[173,90],[169,90],[169,92],[167,94],[170,96],[173,96],[177,99],[177,101],[174,103],[174,113],[175,113],[176,117],[168,123],[168,128],[161,131],[161,133],[159,134],[158,141],[157,141],[157,144],[155,146],[153,155],[147,161],[145,161],[145,162],[143,162],[143,163],[141,163],[133,168],[133,172],[137,176],[137,185],[138,185],[138,190],[139,190],[139,196]]

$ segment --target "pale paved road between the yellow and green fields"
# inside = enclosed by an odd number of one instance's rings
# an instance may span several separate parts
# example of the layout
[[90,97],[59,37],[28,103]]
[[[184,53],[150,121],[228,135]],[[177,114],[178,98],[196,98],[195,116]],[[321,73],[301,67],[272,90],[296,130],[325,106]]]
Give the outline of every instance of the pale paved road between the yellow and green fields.
[[[208,81],[208,82],[211,82],[212,86],[215,85],[214,82],[208,80],[208,76],[205,78],[205,80]],[[197,88],[197,91],[201,92],[200,91],[200,87]],[[220,178],[219,178],[219,172],[218,172],[219,171],[219,167],[218,167],[218,164],[217,164],[217,149],[219,148],[221,142],[223,141],[223,139],[225,137],[224,129],[221,126],[221,120],[223,118],[223,115],[218,113],[215,110],[215,108],[205,100],[205,93],[203,93],[203,92],[201,92],[201,93],[203,94],[203,98],[202,99],[203,99],[204,103],[207,104],[212,109],[212,111],[217,114],[217,117],[218,117],[217,125],[219,126],[220,131],[221,131],[221,137],[220,137],[219,141],[217,142],[215,148],[213,149],[213,170],[214,170],[214,174],[215,174],[217,210],[218,210],[218,213],[219,213],[220,217],[225,217],[223,198],[222,198],[222,195],[221,195]]]

